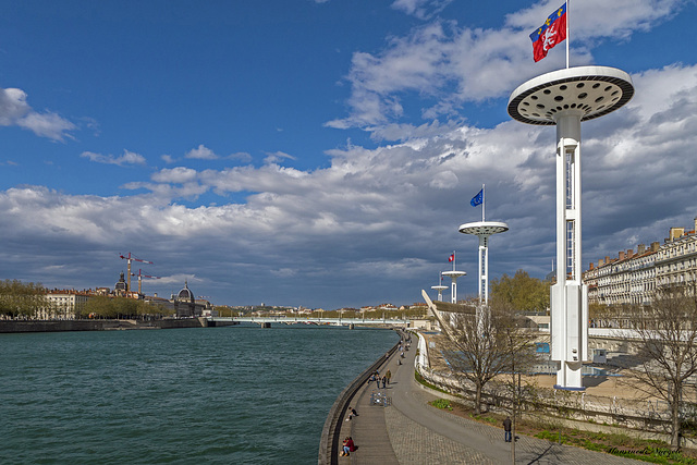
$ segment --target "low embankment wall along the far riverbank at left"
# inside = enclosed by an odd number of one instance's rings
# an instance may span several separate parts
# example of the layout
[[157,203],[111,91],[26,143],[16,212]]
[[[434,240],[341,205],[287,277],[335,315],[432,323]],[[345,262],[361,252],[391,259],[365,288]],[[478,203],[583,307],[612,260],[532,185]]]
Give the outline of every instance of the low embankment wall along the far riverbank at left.
[[206,318],[164,320],[0,320],[0,333],[8,332],[61,332],[61,331],[110,331],[140,329],[175,329],[208,327]]

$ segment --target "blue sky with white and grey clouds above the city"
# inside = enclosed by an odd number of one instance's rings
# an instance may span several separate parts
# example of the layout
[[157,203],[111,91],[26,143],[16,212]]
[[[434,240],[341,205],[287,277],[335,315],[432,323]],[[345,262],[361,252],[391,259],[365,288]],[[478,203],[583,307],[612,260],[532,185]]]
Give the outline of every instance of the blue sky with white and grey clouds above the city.
[[[486,184],[490,279],[554,259],[553,126],[506,113],[562,2],[0,0],[0,279],[216,305],[476,294],[469,199]],[[572,66],[625,71],[583,123],[583,262],[697,216],[694,0],[572,0]],[[140,270],[140,271],[138,271]],[[132,278],[132,286],[137,279]],[[448,298],[447,296],[444,298]]]

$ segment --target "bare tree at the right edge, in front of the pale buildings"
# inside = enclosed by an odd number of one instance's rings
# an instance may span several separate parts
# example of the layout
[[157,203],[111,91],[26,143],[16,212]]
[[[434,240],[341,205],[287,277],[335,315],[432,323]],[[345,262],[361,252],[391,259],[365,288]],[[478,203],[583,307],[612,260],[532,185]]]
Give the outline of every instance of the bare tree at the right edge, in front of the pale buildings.
[[[693,281],[694,282],[694,281]],[[653,304],[637,307],[627,320],[637,341],[637,365],[628,382],[665,401],[671,414],[671,446],[680,449],[681,406],[688,378],[697,374],[697,289],[663,289]]]

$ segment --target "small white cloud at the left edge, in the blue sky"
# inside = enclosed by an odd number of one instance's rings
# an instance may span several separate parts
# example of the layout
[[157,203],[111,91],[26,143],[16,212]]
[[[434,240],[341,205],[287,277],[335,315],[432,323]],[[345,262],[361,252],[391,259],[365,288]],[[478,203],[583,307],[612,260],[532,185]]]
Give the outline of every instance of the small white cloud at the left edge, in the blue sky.
[[17,88],[0,88],[0,125],[19,126],[53,140],[72,138],[76,126],[57,113],[38,113],[26,102],[26,93]]

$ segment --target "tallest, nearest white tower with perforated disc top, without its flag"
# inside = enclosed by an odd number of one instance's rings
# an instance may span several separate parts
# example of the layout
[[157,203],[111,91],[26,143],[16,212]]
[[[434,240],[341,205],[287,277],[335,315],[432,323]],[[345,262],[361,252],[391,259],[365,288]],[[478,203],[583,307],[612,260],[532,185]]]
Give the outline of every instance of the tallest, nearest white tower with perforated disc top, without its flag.
[[580,122],[610,113],[634,96],[632,78],[607,66],[566,68],[518,86],[509,99],[517,121],[557,125],[557,284],[551,290],[551,355],[558,389],[583,390],[588,360],[588,287],[582,281]]

